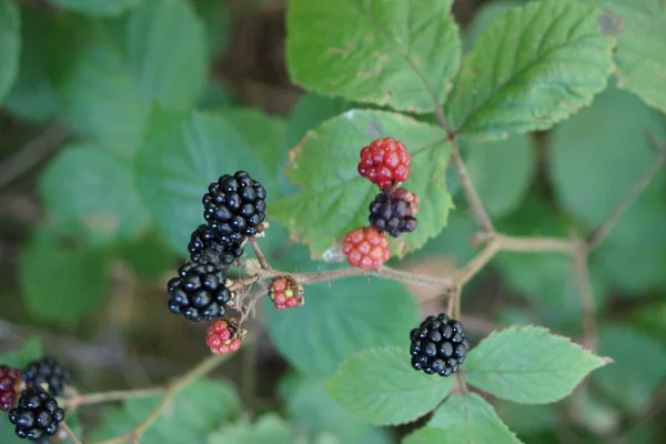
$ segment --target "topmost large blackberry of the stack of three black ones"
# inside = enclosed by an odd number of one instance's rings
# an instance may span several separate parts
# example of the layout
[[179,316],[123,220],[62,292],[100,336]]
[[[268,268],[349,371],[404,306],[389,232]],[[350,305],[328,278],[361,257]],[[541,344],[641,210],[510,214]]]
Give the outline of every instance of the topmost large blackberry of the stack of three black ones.
[[266,219],[266,191],[245,171],[224,174],[209,185],[203,195],[203,216],[208,224],[232,242],[258,233]]

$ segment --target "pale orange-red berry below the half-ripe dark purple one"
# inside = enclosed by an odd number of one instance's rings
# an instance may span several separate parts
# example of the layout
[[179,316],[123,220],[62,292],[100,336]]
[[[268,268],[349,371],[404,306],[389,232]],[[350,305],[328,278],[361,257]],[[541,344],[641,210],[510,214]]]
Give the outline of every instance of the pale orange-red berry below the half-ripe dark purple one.
[[350,264],[363,270],[379,269],[391,258],[389,240],[374,226],[363,226],[346,233],[342,252]]

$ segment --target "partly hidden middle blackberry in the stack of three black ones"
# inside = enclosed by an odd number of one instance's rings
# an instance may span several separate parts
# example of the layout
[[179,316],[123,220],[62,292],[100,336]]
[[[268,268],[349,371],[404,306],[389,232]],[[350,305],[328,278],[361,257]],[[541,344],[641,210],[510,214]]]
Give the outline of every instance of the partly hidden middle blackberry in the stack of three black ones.
[[199,225],[190,238],[188,251],[192,262],[199,264],[231,265],[234,260],[243,255],[243,241],[231,241],[209,225]]

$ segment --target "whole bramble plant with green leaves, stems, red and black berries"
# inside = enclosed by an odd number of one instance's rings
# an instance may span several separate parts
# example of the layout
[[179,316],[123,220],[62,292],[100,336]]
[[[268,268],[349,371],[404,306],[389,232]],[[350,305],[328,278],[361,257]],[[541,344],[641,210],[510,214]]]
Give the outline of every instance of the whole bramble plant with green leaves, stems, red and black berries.
[[[0,186],[59,149],[26,307],[75,326],[122,299],[124,334],[205,355],[88,392],[30,340],[0,355],[0,441],[622,442],[648,422],[664,323],[614,326],[607,295],[666,291],[666,3],[494,1],[465,28],[452,3],[290,0],[306,92],[283,120],[215,78],[224,2],[0,0],[0,104],[46,125]],[[104,300],[110,270],[131,284]],[[120,295],[138,280],[159,297]],[[286,375],[256,363],[264,331]],[[223,363],[240,396],[208,377]],[[258,403],[269,373],[283,408]]]

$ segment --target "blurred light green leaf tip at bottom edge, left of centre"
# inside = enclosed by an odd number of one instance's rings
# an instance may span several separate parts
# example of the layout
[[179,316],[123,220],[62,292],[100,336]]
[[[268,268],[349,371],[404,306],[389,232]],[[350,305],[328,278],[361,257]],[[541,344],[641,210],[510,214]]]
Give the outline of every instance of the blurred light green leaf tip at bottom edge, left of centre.
[[253,424],[238,423],[210,436],[208,444],[292,444],[294,432],[274,413],[265,413]]

